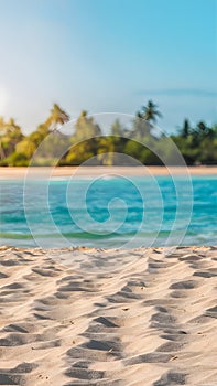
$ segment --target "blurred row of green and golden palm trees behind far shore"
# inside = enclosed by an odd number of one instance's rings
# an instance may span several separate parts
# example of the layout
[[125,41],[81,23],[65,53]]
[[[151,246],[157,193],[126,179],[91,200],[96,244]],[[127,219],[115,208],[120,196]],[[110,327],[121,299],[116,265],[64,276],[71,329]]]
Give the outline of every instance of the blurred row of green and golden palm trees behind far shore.
[[[119,164],[119,154],[135,158],[143,164],[162,164],[161,149],[173,163],[172,149],[165,136],[154,133],[154,124],[161,118],[158,106],[149,100],[126,128],[115,120],[107,136],[87,111],[82,111],[73,135],[59,127],[69,121],[69,115],[54,104],[48,118],[35,131],[24,136],[14,119],[0,118],[0,165],[28,167],[33,154],[35,165],[78,165],[93,159],[93,164]],[[67,127],[66,127],[67,129]],[[217,164],[217,126],[204,121],[191,125],[185,119],[175,135],[170,136],[187,164]],[[150,148],[153,150],[151,151]],[[40,149],[40,150],[39,150]],[[171,152],[171,159],[170,159]],[[91,163],[91,161],[90,161]]]

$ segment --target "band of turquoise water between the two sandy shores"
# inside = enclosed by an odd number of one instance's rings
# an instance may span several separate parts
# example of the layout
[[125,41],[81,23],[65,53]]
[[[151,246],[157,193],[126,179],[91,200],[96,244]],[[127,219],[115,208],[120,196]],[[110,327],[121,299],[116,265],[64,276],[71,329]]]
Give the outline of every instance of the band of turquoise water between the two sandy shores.
[[0,182],[1,245],[132,248],[217,244],[217,178]]

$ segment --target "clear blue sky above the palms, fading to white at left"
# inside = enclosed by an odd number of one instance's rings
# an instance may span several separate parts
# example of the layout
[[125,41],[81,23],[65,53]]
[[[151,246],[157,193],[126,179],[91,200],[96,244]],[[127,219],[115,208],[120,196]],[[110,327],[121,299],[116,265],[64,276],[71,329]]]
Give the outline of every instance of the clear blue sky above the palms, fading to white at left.
[[217,0],[0,0],[0,115],[25,132],[54,101],[217,121]]

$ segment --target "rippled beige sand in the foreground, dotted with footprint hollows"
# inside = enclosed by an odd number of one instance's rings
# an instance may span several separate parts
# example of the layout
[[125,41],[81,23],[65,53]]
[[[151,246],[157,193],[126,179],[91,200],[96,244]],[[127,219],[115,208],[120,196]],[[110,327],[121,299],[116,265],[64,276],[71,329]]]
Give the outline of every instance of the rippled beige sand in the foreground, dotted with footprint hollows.
[[0,385],[217,385],[217,247],[0,249]]

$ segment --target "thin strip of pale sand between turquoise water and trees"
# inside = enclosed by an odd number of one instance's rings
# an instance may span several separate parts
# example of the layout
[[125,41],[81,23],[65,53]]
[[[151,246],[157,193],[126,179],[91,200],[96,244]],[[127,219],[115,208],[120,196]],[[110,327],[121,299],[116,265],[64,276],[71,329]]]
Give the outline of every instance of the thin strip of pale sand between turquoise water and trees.
[[[214,167],[188,167],[187,171],[191,175],[215,175],[217,176],[217,165]],[[170,172],[173,175],[183,175],[186,169],[182,167],[171,167]],[[52,178],[77,178],[100,176],[101,174],[123,175],[123,176],[145,176],[153,174],[155,176],[169,175],[166,167],[57,167],[57,168],[23,168],[23,167],[1,167],[0,180],[24,179],[28,173],[40,176],[41,174]],[[30,175],[29,174],[29,175]]]

